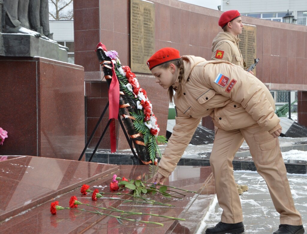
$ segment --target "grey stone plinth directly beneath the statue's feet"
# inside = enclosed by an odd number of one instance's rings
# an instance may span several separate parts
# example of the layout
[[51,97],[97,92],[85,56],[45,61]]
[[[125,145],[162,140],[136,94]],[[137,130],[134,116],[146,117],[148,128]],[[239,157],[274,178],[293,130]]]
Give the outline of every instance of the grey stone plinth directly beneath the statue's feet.
[[67,47],[47,38],[21,33],[0,33],[0,56],[44,57],[67,62],[67,51]]

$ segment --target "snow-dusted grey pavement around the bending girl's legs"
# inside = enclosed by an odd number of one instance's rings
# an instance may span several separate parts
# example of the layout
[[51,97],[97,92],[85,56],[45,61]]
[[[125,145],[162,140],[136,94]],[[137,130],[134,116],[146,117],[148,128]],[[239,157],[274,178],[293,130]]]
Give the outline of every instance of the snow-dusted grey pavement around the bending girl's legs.
[[[256,172],[235,171],[235,180],[239,184],[249,187],[247,192],[240,196],[243,209],[243,223],[245,234],[273,233],[278,229],[279,213],[276,212],[270,198],[268,188],[263,178]],[[303,226],[307,232],[307,175],[288,174],[292,196],[296,209],[301,213]],[[220,222],[222,209],[214,199],[211,209],[207,212],[198,229],[198,234],[204,234],[206,228]]]

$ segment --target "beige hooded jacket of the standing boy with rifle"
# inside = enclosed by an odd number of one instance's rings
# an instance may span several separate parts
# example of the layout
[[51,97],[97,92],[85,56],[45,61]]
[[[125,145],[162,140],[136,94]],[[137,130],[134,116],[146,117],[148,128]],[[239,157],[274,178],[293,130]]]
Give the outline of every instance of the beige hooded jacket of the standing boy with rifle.
[[244,69],[244,60],[239,49],[238,37],[228,32],[220,32],[212,41],[211,60],[225,60]]

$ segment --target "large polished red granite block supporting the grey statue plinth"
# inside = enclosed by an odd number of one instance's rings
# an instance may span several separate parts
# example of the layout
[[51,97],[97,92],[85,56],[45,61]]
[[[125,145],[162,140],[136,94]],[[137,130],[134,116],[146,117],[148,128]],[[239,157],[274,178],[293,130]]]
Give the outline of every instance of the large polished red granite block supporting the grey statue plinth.
[[78,160],[84,148],[84,68],[0,56],[2,155]]

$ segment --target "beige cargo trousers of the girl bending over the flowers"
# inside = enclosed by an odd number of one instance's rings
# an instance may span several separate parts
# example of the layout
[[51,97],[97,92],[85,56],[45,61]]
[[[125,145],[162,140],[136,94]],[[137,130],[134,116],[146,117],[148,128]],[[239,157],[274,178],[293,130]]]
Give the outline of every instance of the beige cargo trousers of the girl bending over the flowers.
[[243,221],[232,160],[244,138],[257,172],[266,181],[275,209],[280,213],[280,224],[302,225],[301,215],[294,207],[278,138],[274,138],[259,126],[232,131],[216,128],[215,131],[210,166],[215,179],[217,199],[223,209],[221,221]]

